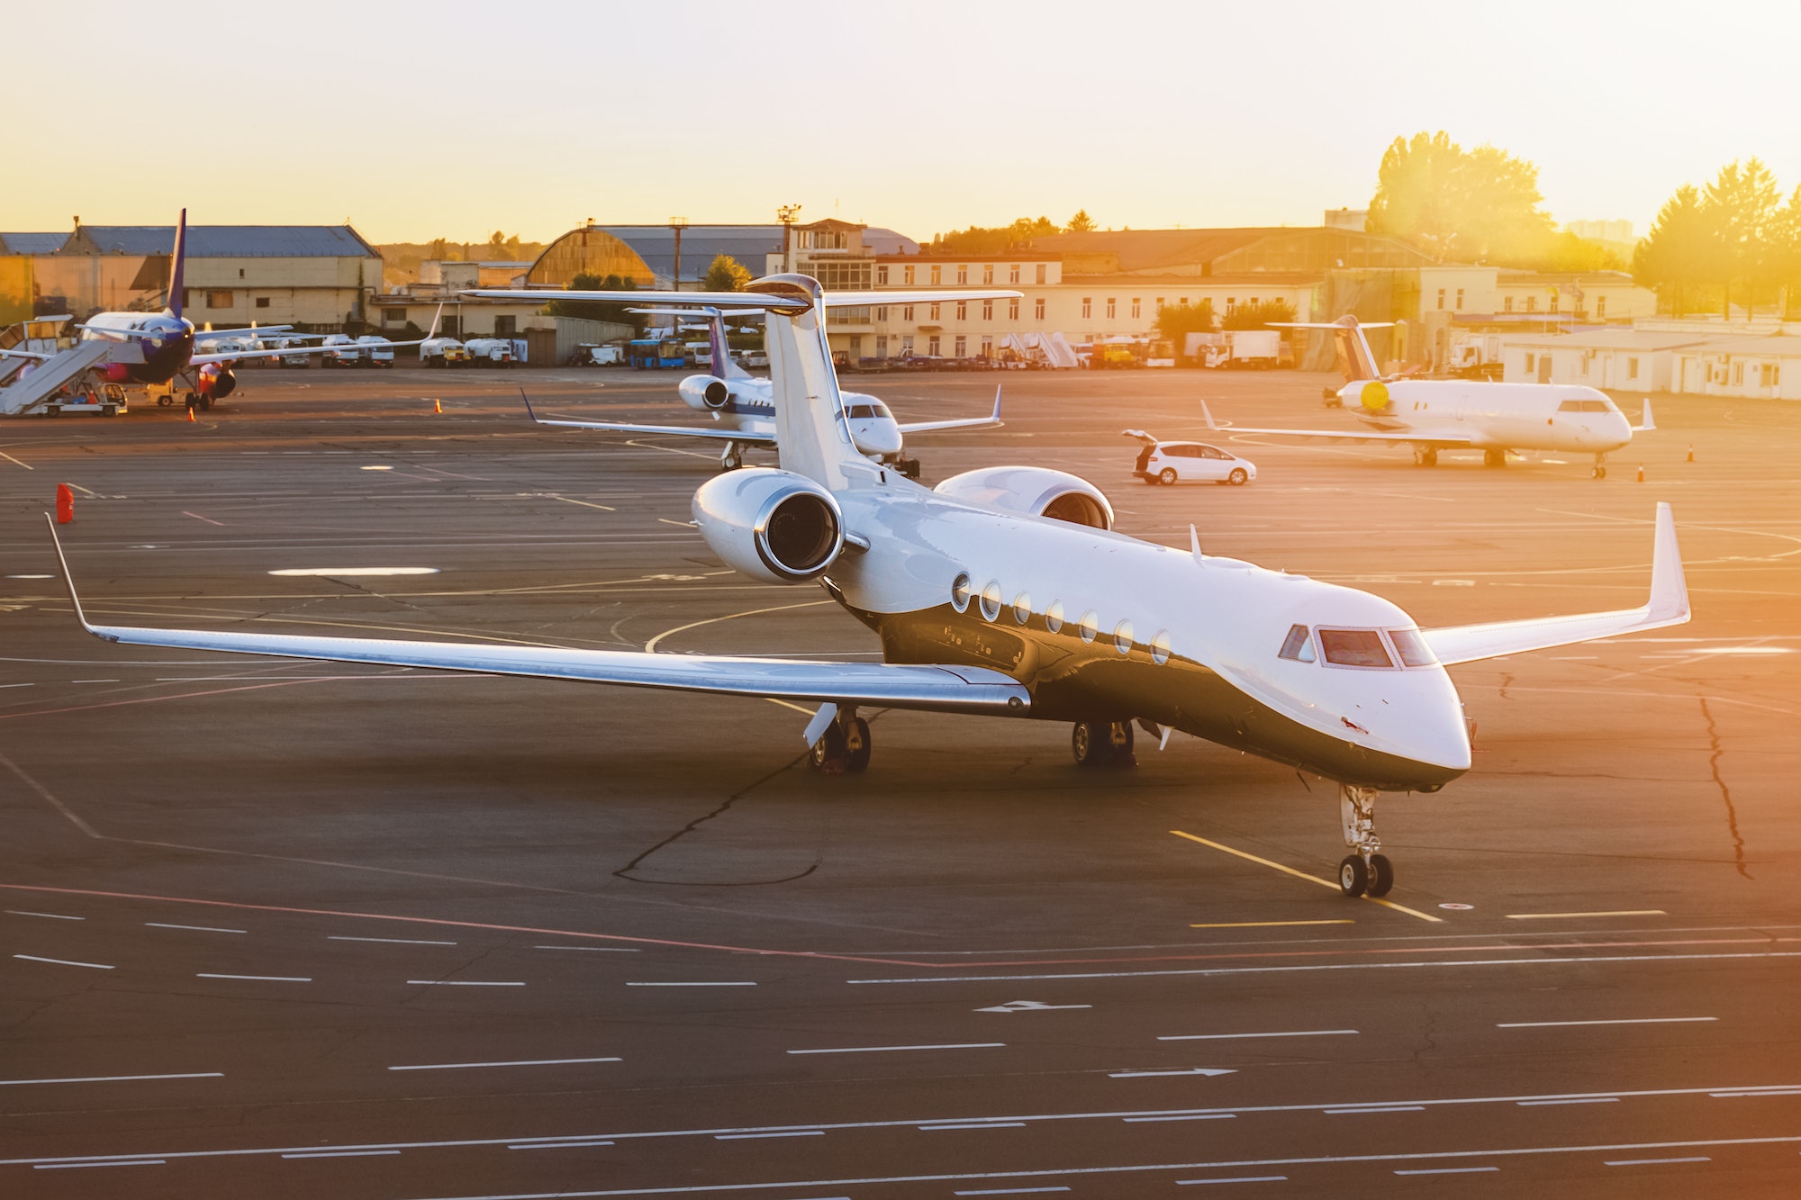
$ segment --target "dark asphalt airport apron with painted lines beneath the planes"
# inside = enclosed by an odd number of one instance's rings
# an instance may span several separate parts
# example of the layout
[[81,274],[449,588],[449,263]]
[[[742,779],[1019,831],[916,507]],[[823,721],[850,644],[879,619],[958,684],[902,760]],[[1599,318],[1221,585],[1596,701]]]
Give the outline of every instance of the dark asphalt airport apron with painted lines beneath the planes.
[[1671,501],[1693,623],[1452,668],[1475,768],[1383,796],[1374,903],[1331,784],[1180,735],[1091,773],[1061,724],[870,714],[827,777],[769,701],[88,638],[63,481],[108,623],[873,658],[708,553],[704,445],[517,402],[704,420],[674,373],[241,380],[0,427],[0,1195],[1801,1191],[1794,405],[1659,396],[1605,481],[1228,438],[1253,485],[1149,488],[1118,431],[1207,436],[1199,396],[1351,418],[1290,371],[848,380],[902,420],[1005,382],[928,483],[1075,470],[1423,627],[1643,602]]

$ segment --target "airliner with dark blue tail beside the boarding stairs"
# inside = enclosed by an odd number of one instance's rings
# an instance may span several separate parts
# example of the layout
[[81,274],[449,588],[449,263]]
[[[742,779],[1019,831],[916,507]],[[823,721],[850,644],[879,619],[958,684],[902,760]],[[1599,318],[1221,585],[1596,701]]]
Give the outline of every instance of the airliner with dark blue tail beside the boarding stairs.
[[[104,384],[169,384],[175,377],[193,371],[196,375],[196,398],[200,407],[211,409],[214,400],[223,400],[238,387],[238,377],[231,364],[240,359],[268,359],[268,350],[227,350],[196,353],[195,344],[231,335],[258,337],[272,330],[288,326],[267,326],[261,330],[205,330],[196,332],[195,323],[182,315],[184,274],[187,268],[187,209],[182,209],[175,223],[175,254],[169,263],[169,299],[158,314],[149,312],[99,312],[79,326],[81,341],[119,342],[128,348],[117,359],[97,366],[95,371]],[[438,306],[443,315],[443,305]],[[438,317],[432,317],[432,330],[425,337],[438,335]],[[420,339],[425,341],[425,339]],[[418,346],[420,342],[393,342],[394,346]],[[281,353],[317,355],[337,350],[335,346],[288,346]],[[7,351],[25,359],[52,359],[54,355]]]

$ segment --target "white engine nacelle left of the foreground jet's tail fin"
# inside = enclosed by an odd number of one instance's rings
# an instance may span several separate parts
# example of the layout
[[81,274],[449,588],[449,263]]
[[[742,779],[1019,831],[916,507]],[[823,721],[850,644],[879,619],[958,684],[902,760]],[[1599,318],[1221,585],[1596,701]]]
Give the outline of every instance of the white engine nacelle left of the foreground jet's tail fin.
[[769,584],[818,578],[845,550],[837,501],[791,470],[713,476],[693,494],[693,523],[726,566]]

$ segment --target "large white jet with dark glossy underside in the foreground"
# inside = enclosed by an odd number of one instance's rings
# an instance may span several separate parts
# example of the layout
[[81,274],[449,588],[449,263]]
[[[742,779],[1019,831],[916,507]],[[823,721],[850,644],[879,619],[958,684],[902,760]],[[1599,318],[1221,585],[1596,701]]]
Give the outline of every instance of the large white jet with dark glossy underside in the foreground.
[[[920,295],[891,303],[937,299]],[[1380,852],[1378,795],[1439,791],[1470,769],[1446,667],[1689,618],[1668,505],[1657,506],[1644,605],[1423,631],[1367,591],[1203,555],[1192,530],[1187,550],[1126,537],[1100,490],[1061,470],[989,467],[928,490],[850,436],[827,310],[870,305],[870,294],[769,276],[749,292],[661,299],[767,319],[783,467],[702,483],[692,503],[701,537],[753,580],[816,582],[881,636],[881,663],[95,625],[65,559],[76,620],[117,645],[805,701],[818,705],[803,733],[814,766],[845,771],[870,762],[859,708],[1066,721],[1084,766],[1129,759],[1133,724],[1160,744],[1180,730],[1336,780],[1351,847],[1338,883],[1381,895],[1394,867]]]

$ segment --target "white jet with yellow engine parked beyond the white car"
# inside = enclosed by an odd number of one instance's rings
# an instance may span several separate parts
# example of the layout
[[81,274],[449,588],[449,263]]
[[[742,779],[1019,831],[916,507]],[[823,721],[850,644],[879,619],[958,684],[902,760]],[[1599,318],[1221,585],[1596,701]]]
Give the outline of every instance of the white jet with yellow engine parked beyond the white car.
[[1329,324],[1281,323],[1295,330],[1331,330],[1345,369],[1338,398],[1353,409],[1362,431],[1349,429],[1252,429],[1219,425],[1207,414],[1207,427],[1234,434],[1270,438],[1324,438],[1327,441],[1401,441],[1414,447],[1414,463],[1435,467],[1439,450],[1482,450],[1488,467],[1506,467],[1509,450],[1558,450],[1594,454],[1594,477],[1606,477],[1606,456],[1625,449],[1635,432],[1657,429],[1652,402],[1641,423],[1632,425],[1612,400],[1594,387],[1576,384],[1482,384],[1446,378],[1398,378],[1376,369],[1365,328],[1356,317]]

